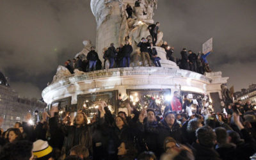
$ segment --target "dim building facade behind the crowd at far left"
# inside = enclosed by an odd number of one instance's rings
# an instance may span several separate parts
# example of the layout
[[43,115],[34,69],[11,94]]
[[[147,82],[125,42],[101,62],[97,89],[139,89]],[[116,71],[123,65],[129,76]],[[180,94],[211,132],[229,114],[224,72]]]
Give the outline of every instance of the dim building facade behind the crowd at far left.
[[0,116],[4,118],[1,128],[4,131],[13,127],[15,122],[24,121],[27,113],[33,115],[34,111],[41,111],[46,104],[38,102],[37,99],[20,98],[13,90],[4,75],[0,72]]

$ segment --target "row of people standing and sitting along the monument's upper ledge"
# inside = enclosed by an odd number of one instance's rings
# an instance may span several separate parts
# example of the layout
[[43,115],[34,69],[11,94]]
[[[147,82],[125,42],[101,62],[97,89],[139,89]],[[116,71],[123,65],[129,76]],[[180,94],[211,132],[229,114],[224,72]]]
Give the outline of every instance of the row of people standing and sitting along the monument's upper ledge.
[[[152,63],[155,67],[161,67],[161,58],[157,56],[156,47],[152,42],[152,36],[147,38],[141,38],[141,42],[138,44],[140,47],[141,61],[142,65],[152,67]],[[167,60],[177,63],[177,65],[184,70],[191,70],[193,72],[198,72],[199,74],[204,74],[205,72],[211,72],[209,68],[209,63],[206,57],[211,54],[207,52],[202,54],[199,52],[197,55],[193,51],[188,51],[184,48],[180,52],[181,58],[175,58],[174,47],[170,47],[166,42],[164,42],[161,47],[166,51]],[[103,52],[104,58],[104,68],[120,68],[129,67],[131,63],[132,46],[127,40],[125,45],[121,45],[115,48],[114,44],[110,44],[110,47],[105,47]],[[108,61],[108,65],[107,62]],[[134,55],[134,64],[140,65],[139,56]],[[83,72],[90,72],[93,70],[101,70],[102,62],[99,60],[99,56],[95,51],[94,47],[91,47],[91,51],[88,52],[86,60],[81,60],[79,56],[74,58],[73,61],[67,60],[65,62],[65,67],[70,71],[71,74],[74,73],[74,69],[81,70]]]

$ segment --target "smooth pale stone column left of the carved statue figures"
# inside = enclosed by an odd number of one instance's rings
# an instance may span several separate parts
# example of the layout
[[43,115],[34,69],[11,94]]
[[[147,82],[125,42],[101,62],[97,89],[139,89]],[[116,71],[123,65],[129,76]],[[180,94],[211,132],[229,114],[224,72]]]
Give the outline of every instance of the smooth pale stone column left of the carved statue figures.
[[103,49],[111,43],[118,47],[122,3],[118,0],[91,0],[92,13],[97,22],[96,51],[103,63]]

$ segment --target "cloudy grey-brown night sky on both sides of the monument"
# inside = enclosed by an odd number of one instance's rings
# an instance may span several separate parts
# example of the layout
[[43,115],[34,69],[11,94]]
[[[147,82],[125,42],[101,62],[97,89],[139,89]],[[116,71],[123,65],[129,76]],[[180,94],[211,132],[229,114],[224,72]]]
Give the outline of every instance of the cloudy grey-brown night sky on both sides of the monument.
[[[177,57],[183,47],[197,53],[212,37],[209,65],[238,91],[256,83],[255,7],[255,0],[159,0],[154,20]],[[1,0],[0,24],[0,71],[21,97],[40,98],[83,40],[95,44],[90,0]]]

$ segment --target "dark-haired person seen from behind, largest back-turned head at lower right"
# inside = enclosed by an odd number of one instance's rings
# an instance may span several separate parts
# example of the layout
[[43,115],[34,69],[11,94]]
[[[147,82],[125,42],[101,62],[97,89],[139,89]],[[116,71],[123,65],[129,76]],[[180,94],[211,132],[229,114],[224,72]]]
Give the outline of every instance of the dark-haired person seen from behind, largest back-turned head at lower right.
[[211,127],[203,126],[196,130],[196,143],[192,145],[195,148],[195,159],[198,160],[220,160],[220,155],[214,150],[216,134]]

